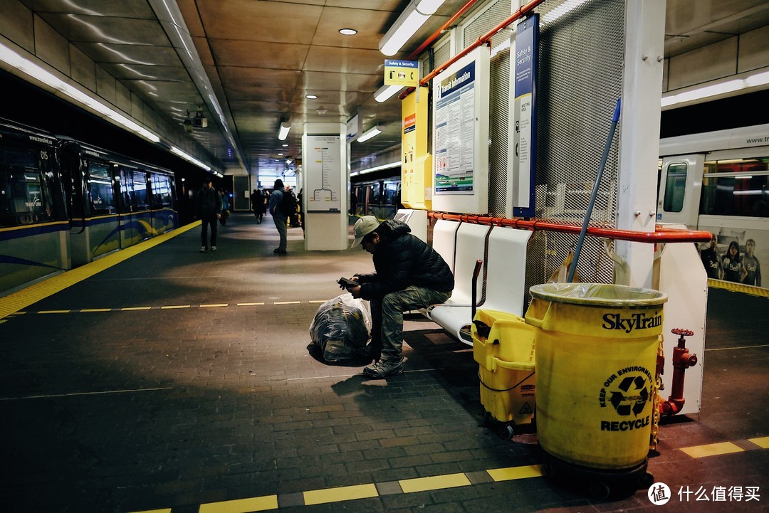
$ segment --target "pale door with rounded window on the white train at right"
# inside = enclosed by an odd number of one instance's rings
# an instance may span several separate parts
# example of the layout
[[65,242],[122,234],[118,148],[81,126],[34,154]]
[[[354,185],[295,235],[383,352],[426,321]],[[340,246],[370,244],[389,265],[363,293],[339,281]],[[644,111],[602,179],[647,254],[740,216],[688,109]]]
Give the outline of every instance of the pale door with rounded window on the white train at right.
[[703,154],[662,158],[657,221],[697,227],[703,168]]

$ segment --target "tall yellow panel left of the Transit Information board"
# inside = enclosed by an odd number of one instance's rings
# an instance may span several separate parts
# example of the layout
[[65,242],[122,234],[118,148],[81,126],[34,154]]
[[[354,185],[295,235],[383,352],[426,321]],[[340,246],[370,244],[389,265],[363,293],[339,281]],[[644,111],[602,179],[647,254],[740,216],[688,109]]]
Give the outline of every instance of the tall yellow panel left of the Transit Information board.
[[429,210],[432,203],[428,91],[428,88],[417,88],[401,103],[401,203],[420,210]]

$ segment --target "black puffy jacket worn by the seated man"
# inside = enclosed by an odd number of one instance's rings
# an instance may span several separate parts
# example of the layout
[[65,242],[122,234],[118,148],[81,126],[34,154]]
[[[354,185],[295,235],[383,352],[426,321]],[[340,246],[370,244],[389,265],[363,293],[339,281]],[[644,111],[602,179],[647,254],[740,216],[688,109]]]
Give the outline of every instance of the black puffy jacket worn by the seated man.
[[454,275],[448,264],[428,244],[411,235],[411,228],[386,220],[377,229],[381,242],[374,253],[375,273],[357,274],[364,300],[381,298],[407,286],[454,290]]

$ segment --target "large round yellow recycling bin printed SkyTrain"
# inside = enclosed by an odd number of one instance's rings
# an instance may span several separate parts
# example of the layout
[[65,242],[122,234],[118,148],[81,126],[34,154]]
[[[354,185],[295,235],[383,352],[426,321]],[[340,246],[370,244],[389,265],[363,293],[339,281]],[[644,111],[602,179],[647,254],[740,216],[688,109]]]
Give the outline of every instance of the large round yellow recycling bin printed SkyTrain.
[[537,435],[572,465],[645,465],[662,333],[657,290],[603,283],[531,287],[537,326]]

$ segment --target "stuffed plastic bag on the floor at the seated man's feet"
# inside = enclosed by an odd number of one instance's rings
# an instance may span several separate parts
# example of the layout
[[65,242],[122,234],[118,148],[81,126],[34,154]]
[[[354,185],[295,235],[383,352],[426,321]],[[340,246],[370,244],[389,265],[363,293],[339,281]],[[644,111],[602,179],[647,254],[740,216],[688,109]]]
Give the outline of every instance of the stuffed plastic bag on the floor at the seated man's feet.
[[368,329],[371,314],[368,303],[345,293],[318,308],[310,323],[311,355],[325,362],[361,359],[368,355]]

